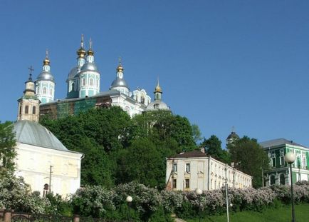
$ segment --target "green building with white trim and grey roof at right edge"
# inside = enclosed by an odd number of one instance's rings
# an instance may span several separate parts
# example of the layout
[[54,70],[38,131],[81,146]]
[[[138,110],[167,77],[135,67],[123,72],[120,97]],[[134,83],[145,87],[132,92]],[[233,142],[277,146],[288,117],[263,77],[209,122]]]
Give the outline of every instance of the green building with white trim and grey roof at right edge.
[[290,184],[290,169],[284,155],[288,152],[295,154],[295,162],[292,164],[293,183],[297,181],[309,181],[309,148],[285,138],[277,138],[260,143],[268,153],[270,169],[263,173],[264,186],[275,184]]

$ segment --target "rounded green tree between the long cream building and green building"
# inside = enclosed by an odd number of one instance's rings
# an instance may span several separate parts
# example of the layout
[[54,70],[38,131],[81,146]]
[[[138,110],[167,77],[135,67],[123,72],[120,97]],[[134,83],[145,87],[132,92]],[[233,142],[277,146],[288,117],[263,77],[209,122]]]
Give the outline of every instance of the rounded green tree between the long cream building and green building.
[[262,169],[268,169],[269,160],[256,138],[243,136],[243,138],[229,144],[228,148],[231,153],[231,161],[234,161],[236,168],[253,176],[254,188],[261,187]]

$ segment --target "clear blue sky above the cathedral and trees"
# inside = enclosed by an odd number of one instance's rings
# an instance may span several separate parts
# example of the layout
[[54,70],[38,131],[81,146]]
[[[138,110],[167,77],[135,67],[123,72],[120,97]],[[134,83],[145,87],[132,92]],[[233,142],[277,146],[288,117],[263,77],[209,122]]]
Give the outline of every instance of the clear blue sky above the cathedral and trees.
[[[0,120],[15,121],[28,67],[49,49],[56,99],[93,39],[101,91],[125,79],[187,116],[204,137],[287,138],[309,146],[309,1],[1,0]],[[86,44],[88,48],[88,44]]]

